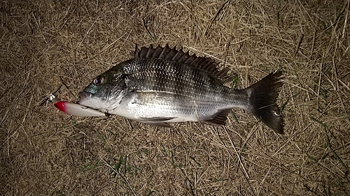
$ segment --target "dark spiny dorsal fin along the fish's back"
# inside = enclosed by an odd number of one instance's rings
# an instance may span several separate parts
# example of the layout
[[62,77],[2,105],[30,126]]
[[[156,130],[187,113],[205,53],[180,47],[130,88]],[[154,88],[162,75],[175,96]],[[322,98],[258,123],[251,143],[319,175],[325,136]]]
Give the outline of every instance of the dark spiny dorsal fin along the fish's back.
[[207,57],[200,57],[196,54],[190,55],[188,52],[183,52],[183,50],[176,50],[175,47],[171,48],[169,45],[162,47],[153,48],[153,45],[149,47],[141,47],[138,49],[136,47],[134,58],[158,58],[158,59],[168,59],[171,61],[177,61],[178,63],[183,63],[190,66],[195,66],[201,70],[207,71],[218,81],[223,84],[231,82],[233,80],[233,75],[228,75],[228,68],[218,69],[218,63],[213,59]]

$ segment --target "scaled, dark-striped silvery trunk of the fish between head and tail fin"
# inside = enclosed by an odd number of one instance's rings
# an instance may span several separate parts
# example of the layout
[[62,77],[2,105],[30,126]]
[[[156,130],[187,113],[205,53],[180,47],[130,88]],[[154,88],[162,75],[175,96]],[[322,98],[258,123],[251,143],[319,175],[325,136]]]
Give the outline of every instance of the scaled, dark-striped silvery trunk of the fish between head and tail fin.
[[176,61],[133,59],[119,66],[123,66],[130,91],[111,114],[146,123],[159,119],[210,123],[223,110],[246,105],[243,91],[232,90],[209,73]]

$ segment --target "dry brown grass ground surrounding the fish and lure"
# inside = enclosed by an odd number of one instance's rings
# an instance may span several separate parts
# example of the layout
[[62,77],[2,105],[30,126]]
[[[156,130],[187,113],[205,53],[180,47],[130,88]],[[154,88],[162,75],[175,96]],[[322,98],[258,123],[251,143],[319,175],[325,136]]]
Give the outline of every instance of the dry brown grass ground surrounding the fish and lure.
[[[1,1],[1,195],[350,195],[345,1]],[[135,44],[212,56],[238,87],[281,68],[285,135],[234,110],[224,128],[80,118]]]

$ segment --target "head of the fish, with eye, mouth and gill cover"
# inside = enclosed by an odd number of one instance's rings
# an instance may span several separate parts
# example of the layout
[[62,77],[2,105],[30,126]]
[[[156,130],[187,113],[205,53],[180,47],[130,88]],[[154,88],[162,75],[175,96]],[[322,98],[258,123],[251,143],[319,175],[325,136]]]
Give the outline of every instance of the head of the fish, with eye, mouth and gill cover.
[[95,77],[92,82],[79,93],[80,105],[109,112],[120,104],[126,90],[123,72],[111,69]]

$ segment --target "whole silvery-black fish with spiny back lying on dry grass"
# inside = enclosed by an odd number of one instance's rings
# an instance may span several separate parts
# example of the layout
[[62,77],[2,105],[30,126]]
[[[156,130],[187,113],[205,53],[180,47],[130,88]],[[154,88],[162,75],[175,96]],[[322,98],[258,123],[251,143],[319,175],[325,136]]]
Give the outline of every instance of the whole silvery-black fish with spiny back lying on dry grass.
[[228,113],[239,107],[276,133],[283,117],[276,98],[281,70],[269,73],[246,89],[232,89],[229,68],[207,56],[190,55],[176,47],[136,47],[134,58],[94,77],[79,93],[79,104],[154,126],[199,121],[225,126]]

